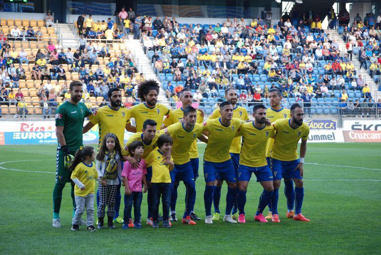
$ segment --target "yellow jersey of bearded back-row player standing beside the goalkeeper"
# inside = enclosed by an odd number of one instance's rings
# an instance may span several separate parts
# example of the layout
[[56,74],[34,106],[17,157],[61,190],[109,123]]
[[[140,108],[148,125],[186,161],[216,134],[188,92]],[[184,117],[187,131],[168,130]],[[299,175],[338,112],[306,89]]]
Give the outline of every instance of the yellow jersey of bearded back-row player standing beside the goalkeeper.
[[130,119],[130,111],[124,107],[119,107],[118,110],[113,110],[110,106],[106,105],[94,112],[89,116],[89,120],[94,125],[98,124],[99,129],[99,143],[98,148],[103,142],[103,137],[107,133],[114,133],[118,137],[120,145],[124,144],[124,130],[127,121]]

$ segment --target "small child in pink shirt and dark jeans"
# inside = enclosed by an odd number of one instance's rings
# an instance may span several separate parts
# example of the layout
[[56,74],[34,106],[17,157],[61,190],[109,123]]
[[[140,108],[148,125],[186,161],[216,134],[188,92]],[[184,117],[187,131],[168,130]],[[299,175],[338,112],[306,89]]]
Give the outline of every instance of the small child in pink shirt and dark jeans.
[[[142,205],[143,198],[143,186],[144,193],[147,192],[147,182],[145,180],[145,174],[147,168],[145,161],[141,159],[144,149],[141,141],[133,141],[128,145],[130,155],[140,162],[138,168],[134,168],[130,162],[124,163],[122,176],[124,183],[124,215],[122,229],[128,229],[129,227],[142,228],[140,207]],[[132,205],[134,204],[134,221],[132,220]]]

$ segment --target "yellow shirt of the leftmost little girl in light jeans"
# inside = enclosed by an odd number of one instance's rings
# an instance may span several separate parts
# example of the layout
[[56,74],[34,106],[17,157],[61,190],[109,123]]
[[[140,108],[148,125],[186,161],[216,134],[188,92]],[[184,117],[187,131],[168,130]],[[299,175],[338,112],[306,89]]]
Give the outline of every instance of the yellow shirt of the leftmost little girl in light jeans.
[[94,194],[95,179],[98,178],[98,173],[95,170],[95,164],[93,162],[89,166],[83,162],[79,163],[71,173],[71,178],[78,179],[80,182],[85,184],[85,190],[81,190],[77,185],[75,185],[74,195],[85,197],[89,194]]

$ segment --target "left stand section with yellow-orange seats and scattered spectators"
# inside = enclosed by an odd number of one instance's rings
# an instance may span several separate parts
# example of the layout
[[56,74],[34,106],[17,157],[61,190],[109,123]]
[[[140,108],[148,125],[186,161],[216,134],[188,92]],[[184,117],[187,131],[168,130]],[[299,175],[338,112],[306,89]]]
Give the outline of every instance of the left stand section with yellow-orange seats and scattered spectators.
[[[85,25],[85,44],[71,49],[62,47],[54,28],[43,20],[1,19],[1,115],[49,118],[70,97],[73,80],[83,81],[83,101],[90,109],[106,104],[110,87],[120,88],[126,106],[135,104],[136,86],[144,75],[138,73],[123,32],[121,36],[116,24],[103,25]],[[94,30],[101,34],[94,37]]]

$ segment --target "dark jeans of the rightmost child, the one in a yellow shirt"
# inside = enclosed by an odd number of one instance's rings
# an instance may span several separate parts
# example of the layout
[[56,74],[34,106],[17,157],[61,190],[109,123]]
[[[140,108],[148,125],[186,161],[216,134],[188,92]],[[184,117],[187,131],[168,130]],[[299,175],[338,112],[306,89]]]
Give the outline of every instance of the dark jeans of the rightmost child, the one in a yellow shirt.
[[153,221],[158,221],[160,196],[163,207],[163,221],[168,220],[169,204],[171,200],[171,183],[151,183],[152,191],[152,216]]

